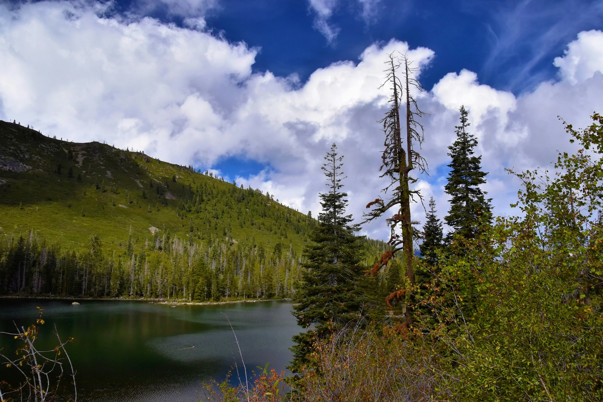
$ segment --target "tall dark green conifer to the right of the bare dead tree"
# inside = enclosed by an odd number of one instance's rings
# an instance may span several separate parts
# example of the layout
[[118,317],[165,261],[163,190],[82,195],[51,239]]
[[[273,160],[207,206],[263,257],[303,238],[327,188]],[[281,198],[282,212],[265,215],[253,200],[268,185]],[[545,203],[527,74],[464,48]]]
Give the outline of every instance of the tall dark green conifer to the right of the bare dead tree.
[[480,220],[490,221],[491,198],[485,199],[484,195],[487,193],[479,188],[486,182],[488,173],[481,171],[481,155],[473,156],[473,148],[478,145],[478,140],[467,132],[469,112],[464,105],[460,111],[461,125],[455,126],[456,140],[448,147],[452,162],[448,165],[451,170],[444,191],[452,198],[449,200],[450,210],[444,220],[454,228],[454,233],[471,239],[478,231]]

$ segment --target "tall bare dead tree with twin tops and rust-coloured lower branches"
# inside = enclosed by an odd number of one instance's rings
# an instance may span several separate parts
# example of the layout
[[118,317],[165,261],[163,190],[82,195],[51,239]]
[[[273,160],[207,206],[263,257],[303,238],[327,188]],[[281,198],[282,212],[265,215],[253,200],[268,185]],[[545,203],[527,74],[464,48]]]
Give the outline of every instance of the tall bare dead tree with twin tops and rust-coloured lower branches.
[[[419,173],[425,172],[427,163],[417,151],[420,149],[424,139],[423,125],[417,118],[425,116],[418,108],[417,101],[411,93],[412,90],[424,91],[421,84],[415,78],[415,72],[418,68],[412,67],[412,61],[406,57],[406,54],[390,54],[389,60],[385,63],[388,68],[385,70],[385,85],[391,86],[390,110],[385,113],[385,117],[379,121],[383,124],[385,133],[385,149],[381,155],[382,165],[379,171],[380,177],[388,177],[390,183],[382,189],[383,193],[390,193],[390,198],[384,201],[383,198],[377,198],[367,204],[370,212],[365,213],[364,222],[379,218],[388,211],[392,210],[393,216],[387,218],[386,222],[391,231],[390,245],[384,256],[373,266],[370,274],[376,272],[394,256],[397,251],[402,251],[403,260],[406,268],[407,283],[414,284],[414,271],[412,269],[412,260],[414,251],[412,240],[418,236],[418,231],[414,230],[411,219],[411,203],[419,199],[422,201],[418,190],[412,190],[411,185],[418,179],[411,177],[412,170]],[[400,77],[399,71],[402,71]],[[402,125],[400,122],[400,108],[405,105],[405,128],[406,136],[402,135]],[[384,197],[385,198],[385,197]],[[408,319],[408,310],[407,317]]]

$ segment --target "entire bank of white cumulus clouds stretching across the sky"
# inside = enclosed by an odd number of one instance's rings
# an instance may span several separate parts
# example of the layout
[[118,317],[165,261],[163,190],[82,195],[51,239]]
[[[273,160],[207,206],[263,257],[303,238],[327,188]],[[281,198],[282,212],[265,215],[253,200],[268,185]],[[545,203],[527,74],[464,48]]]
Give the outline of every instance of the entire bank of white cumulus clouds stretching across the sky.
[[[33,124],[48,135],[77,141],[106,140],[121,148],[205,170],[227,157],[270,166],[251,177],[230,177],[268,191],[303,212],[320,209],[320,170],[332,142],[345,155],[350,212],[357,218],[379,195],[383,134],[376,123],[387,110],[383,62],[408,52],[420,68],[434,52],[405,42],[376,43],[356,61],[317,69],[299,85],[270,72],[252,74],[256,51],[203,30],[145,18],[99,17],[94,7],[37,2],[0,10],[0,118]],[[594,34],[592,33],[594,32]],[[560,79],[515,96],[479,83],[470,71],[445,75],[417,94],[426,142],[421,154],[431,176],[417,186],[434,195],[446,215],[447,146],[454,139],[458,108],[470,111],[472,132],[488,175],[485,190],[494,212],[509,213],[519,183],[505,167],[548,167],[567,137],[556,116],[576,126],[603,110],[603,63],[598,31],[581,33],[555,59]],[[595,45],[593,45],[595,43]],[[598,61],[599,60],[599,61]],[[423,219],[420,204],[414,216]],[[387,237],[384,222],[365,233]]]

